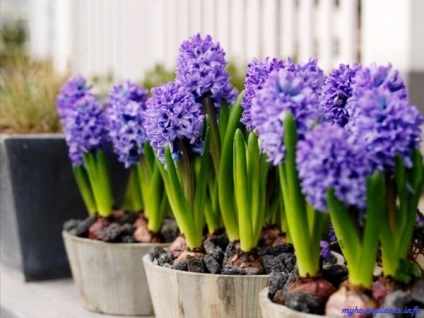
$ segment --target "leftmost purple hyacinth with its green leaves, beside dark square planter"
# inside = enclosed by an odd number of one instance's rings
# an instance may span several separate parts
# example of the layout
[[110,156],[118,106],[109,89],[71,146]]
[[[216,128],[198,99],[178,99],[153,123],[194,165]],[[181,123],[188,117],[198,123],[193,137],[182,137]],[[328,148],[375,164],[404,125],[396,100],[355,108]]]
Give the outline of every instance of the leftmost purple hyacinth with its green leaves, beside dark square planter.
[[[75,82],[79,84],[75,85]],[[66,135],[77,185],[90,214],[112,214],[113,196],[105,149],[106,117],[97,99],[81,87],[81,77],[71,78],[58,96],[58,112]],[[77,92],[75,93],[75,87]]]

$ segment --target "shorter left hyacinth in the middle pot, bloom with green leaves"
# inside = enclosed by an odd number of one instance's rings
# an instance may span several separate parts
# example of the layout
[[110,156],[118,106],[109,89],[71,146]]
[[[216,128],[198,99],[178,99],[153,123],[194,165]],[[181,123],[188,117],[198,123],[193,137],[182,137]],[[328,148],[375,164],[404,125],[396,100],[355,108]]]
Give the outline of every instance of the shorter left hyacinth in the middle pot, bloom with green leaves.
[[146,135],[156,150],[169,204],[188,248],[201,248],[205,225],[210,156],[209,129],[193,95],[179,83],[152,89],[147,101]]

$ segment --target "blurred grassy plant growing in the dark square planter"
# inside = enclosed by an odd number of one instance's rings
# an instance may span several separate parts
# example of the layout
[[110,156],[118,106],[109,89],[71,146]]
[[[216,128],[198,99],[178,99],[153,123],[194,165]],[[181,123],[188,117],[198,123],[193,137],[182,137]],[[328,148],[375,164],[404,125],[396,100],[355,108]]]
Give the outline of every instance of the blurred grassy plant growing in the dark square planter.
[[0,74],[0,132],[60,132],[56,95],[67,77],[51,63],[9,60]]

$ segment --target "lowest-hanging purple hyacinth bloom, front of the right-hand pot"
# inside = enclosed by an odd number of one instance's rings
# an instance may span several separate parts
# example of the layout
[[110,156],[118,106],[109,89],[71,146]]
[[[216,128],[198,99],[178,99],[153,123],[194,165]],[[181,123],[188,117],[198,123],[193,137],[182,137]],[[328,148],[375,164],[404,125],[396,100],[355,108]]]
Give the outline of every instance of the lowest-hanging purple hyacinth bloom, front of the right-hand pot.
[[328,211],[327,189],[347,207],[365,208],[366,178],[372,173],[365,147],[342,127],[321,125],[297,143],[296,164],[302,193]]

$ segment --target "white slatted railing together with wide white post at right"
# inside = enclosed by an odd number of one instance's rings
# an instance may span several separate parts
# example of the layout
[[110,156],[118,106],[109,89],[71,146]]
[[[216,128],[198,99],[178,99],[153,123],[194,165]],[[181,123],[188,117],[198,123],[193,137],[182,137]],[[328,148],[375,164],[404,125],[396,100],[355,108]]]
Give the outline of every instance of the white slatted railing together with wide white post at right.
[[197,32],[211,34],[240,65],[290,56],[318,57],[327,71],[354,61],[424,70],[422,0],[31,0],[30,7],[35,55],[86,76],[111,71],[136,80],[156,63],[174,67],[179,44]]

